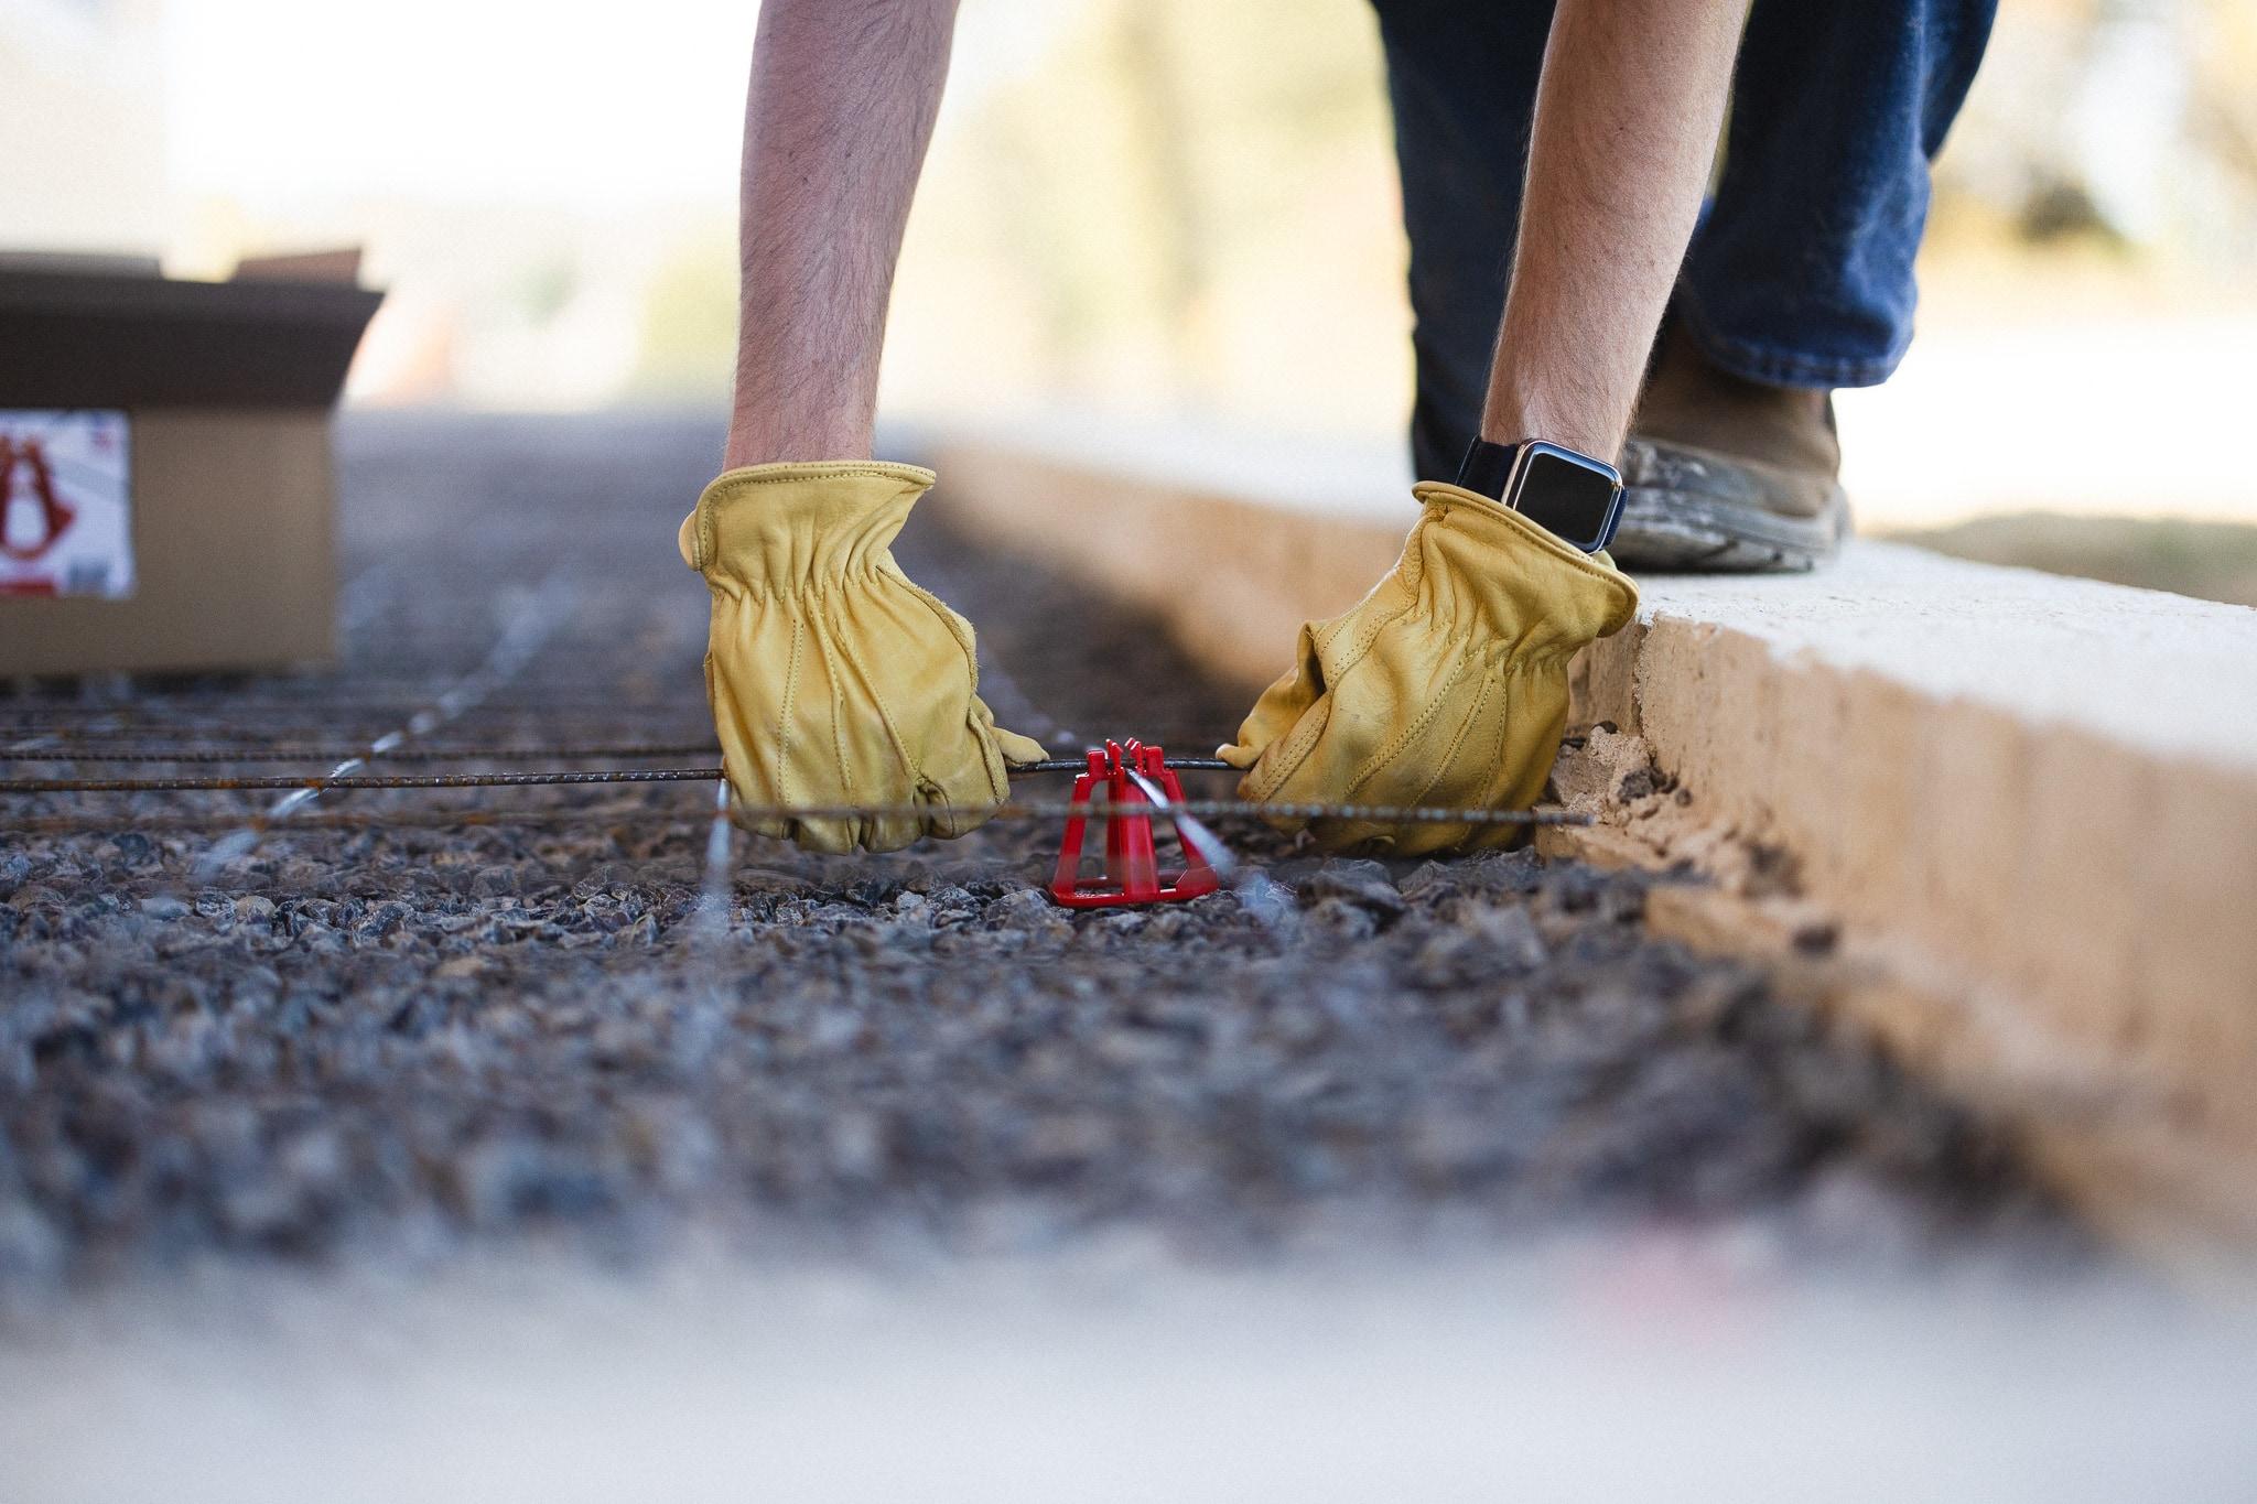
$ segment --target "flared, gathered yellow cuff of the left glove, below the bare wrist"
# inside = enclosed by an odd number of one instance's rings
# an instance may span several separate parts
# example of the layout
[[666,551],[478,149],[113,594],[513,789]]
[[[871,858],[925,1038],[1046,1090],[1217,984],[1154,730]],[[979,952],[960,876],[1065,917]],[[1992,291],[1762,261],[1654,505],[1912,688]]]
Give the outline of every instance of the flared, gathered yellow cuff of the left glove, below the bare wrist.
[[930,469],[880,460],[747,465],[706,485],[675,541],[713,589],[822,591],[885,564],[932,480]]

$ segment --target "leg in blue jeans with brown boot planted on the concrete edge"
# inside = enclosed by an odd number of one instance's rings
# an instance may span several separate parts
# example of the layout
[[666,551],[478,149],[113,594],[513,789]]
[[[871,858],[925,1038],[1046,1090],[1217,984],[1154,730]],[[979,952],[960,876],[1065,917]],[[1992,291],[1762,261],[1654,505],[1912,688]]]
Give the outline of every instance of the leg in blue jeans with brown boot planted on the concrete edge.
[[1616,557],[1808,568],[1846,530],[1826,392],[1912,340],[1927,162],[1995,0],[1756,0],[1724,176],[1632,442]]

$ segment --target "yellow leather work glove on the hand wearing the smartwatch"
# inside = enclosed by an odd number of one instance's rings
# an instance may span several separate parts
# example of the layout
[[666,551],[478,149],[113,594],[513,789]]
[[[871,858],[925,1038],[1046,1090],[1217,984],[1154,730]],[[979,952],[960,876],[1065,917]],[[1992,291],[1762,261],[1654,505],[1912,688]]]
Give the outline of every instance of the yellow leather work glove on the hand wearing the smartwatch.
[[[1519,512],[1424,483],[1426,507],[1372,593],[1300,629],[1300,661],[1262,692],[1239,740],[1239,798],[1526,809],[1566,726],[1566,661],[1621,631],[1639,591]],[[1300,821],[1293,821],[1296,825]],[[1501,846],[1512,825],[1316,821],[1329,850]]]

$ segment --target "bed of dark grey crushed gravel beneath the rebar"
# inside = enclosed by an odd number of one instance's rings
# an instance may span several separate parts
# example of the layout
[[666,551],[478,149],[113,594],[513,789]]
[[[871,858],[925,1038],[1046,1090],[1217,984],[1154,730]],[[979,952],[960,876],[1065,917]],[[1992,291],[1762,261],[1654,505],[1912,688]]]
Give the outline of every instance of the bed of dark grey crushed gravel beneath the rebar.
[[[361,771],[709,767],[673,530],[715,453],[670,419],[352,419],[341,665],[16,685],[5,776],[325,771],[390,733]],[[1207,753],[1244,710],[939,507],[901,552],[1009,670],[1007,722]],[[494,749],[589,755],[465,755]],[[241,760],[278,751],[307,755]],[[713,850],[713,789],[682,782],[332,791],[246,832],[275,798],[0,796],[0,1290],[632,1258],[686,1227],[749,1256],[1122,1227],[1223,1258],[1654,1222],[1889,1265],[2076,1242],[1995,1132],[1760,970],[1652,938],[1650,877],[1226,823],[1235,888],[1065,913],[1038,823]],[[537,819],[433,823],[465,809]]]

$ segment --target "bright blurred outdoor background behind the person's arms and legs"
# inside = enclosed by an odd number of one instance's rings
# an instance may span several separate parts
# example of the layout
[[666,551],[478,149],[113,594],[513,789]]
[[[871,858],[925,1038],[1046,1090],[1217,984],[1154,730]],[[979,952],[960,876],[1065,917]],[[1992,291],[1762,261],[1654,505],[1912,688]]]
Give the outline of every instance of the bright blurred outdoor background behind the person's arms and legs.
[[[5,0],[0,248],[361,244],[354,406],[718,406],[756,0]],[[1867,532],[2257,604],[2257,5],[2006,0],[1921,334],[1842,401]],[[966,0],[885,410],[1399,449],[1356,0]]]

